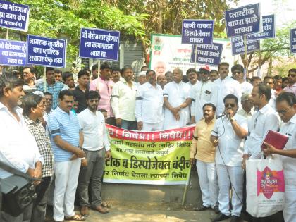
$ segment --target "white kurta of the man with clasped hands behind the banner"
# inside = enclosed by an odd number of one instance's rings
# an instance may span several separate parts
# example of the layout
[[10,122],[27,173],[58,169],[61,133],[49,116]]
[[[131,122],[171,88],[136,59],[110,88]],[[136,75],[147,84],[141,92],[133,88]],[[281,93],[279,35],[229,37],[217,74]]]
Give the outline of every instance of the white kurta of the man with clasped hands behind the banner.
[[[173,107],[180,106],[188,98],[190,93],[190,86],[184,82],[176,83],[169,82],[164,86],[164,97],[168,98],[168,102]],[[189,106],[179,111],[180,120],[176,121],[173,113],[167,108],[164,110],[164,130],[180,128],[185,126],[190,121]]]

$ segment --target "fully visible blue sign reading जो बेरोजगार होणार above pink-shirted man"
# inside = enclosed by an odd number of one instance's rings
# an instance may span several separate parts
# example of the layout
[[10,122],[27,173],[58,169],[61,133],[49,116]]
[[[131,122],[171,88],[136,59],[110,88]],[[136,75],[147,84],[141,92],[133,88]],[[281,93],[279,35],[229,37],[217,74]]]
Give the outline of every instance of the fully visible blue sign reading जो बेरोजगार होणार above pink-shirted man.
[[82,27],[79,56],[118,61],[120,32]]

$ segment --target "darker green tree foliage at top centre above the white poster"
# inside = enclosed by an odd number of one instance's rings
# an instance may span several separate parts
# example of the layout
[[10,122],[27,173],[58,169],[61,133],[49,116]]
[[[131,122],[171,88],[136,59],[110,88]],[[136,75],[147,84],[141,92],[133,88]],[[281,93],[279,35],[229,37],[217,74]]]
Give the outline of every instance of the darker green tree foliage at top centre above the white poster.
[[105,4],[111,4],[128,15],[147,14],[144,49],[149,47],[152,33],[180,35],[182,20],[186,18],[214,19],[214,37],[226,37],[224,11],[232,2],[238,0],[104,0]]

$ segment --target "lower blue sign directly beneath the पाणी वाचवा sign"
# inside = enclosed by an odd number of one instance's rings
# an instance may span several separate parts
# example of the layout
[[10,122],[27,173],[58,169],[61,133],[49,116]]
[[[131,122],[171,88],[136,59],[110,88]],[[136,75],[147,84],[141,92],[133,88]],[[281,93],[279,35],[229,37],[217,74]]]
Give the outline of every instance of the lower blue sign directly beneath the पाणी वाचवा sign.
[[191,53],[191,61],[195,63],[195,51],[197,50],[197,61],[196,63],[208,64],[218,66],[221,61],[223,44],[213,43],[211,44],[199,44],[193,45]]

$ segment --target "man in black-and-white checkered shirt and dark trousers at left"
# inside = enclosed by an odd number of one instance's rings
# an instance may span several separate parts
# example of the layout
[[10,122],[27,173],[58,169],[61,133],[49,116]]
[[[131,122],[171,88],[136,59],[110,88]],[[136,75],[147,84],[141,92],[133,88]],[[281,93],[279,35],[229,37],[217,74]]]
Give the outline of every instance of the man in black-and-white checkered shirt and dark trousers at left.
[[42,182],[36,187],[37,199],[35,199],[33,205],[31,222],[44,221],[54,162],[49,137],[45,133],[42,122],[39,121],[45,110],[45,97],[42,92],[40,94],[28,94],[23,97],[23,116],[25,123],[27,123],[27,128],[35,138],[39,152],[44,158],[44,164],[42,164]]

